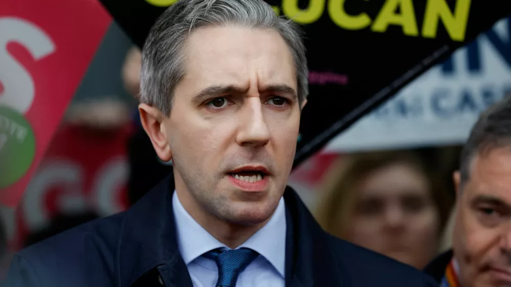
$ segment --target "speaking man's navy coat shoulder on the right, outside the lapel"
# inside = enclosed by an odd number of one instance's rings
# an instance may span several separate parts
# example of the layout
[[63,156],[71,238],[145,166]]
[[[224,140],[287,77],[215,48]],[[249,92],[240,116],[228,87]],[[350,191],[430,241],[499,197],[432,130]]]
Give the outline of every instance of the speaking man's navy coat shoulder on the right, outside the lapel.
[[436,285],[432,278],[416,268],[330,234],[328,236],[335,257],[338,258],[342,277],[357,282],[353,284],[355,286]]

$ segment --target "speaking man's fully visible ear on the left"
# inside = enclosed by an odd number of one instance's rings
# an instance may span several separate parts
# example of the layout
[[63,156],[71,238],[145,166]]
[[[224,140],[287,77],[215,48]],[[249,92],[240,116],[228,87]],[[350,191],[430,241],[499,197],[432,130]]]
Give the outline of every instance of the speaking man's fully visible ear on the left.
[[172,159],[172,152],[169,146],[167,130],[163,125],[165,115],[157,108],[147,104],[138,105],[138,112],[140,112],[142,126],[151,139],[156,154],[162,161],[170,161]]

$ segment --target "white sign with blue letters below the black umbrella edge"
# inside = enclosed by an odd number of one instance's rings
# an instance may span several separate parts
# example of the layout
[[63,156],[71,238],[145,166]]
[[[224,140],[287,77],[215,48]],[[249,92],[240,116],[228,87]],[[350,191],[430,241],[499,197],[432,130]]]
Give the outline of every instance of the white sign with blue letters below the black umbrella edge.
[[479,113],[511,92],[510,35],[511,20],[497,22],[334,138],[326,151],[462,144]]

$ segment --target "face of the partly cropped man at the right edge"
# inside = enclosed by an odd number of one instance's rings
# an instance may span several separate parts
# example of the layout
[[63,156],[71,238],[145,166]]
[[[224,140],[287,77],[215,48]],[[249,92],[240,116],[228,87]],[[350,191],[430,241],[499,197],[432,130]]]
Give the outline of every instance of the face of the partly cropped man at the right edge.
[[454,253],[464,287],[511,286],[511,148],[477,155],[458,184]]

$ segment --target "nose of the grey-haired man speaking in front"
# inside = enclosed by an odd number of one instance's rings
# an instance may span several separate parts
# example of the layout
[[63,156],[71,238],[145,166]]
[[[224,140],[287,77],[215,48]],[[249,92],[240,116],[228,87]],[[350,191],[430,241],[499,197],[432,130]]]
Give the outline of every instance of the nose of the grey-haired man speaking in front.
[[240,129],[236,141],[240,146],[265,146],[270,140],[270,131],[263,114],[259,97],[249,97],[241,110]]

